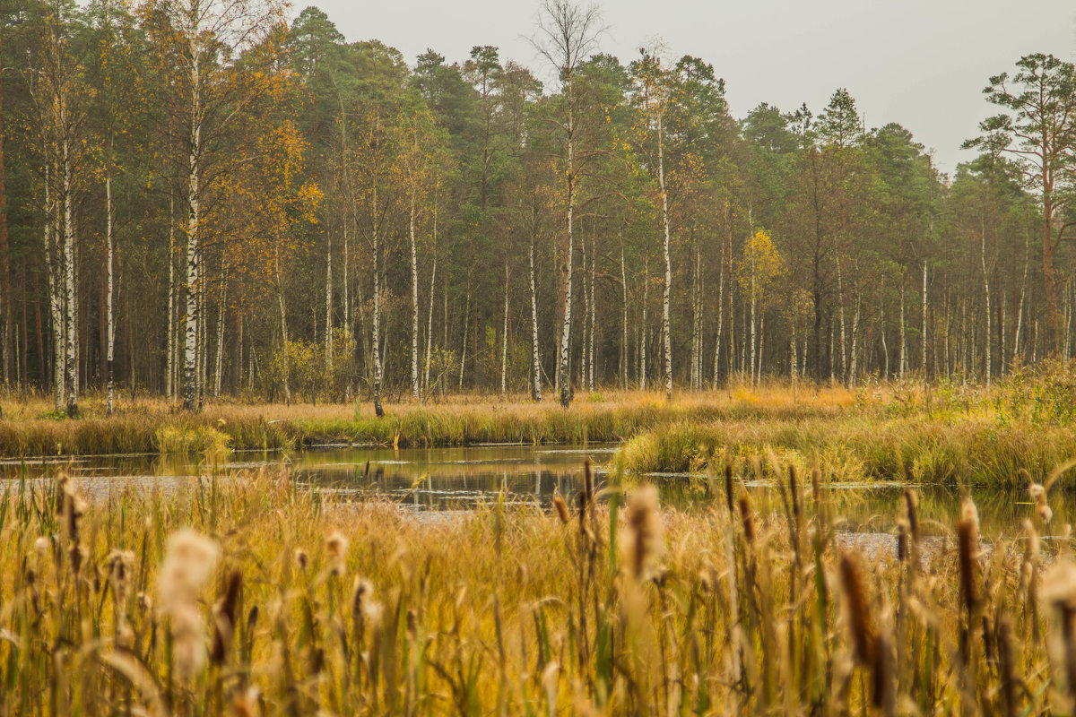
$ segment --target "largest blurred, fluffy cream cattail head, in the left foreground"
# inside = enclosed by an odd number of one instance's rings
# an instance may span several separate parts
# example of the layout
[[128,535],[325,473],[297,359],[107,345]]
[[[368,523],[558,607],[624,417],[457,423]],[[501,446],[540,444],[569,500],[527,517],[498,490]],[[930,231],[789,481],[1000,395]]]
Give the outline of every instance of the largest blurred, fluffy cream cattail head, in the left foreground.
[[216,543],[185,528],[168,539],[157,576],[160,608],[171,620],[172,658],[176,672],[190,677],[204,660],[204,622],[197,600],[216,565]]

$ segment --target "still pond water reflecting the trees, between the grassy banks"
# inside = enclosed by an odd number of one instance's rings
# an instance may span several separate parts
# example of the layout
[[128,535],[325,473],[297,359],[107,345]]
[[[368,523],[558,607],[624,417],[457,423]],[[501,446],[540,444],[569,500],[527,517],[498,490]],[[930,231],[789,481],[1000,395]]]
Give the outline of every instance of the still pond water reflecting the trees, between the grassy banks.
[[[0,477],[10,482],[42,479],[67,471],[84,491],[107,493],[117,485],[146,485],[182,490],[195,476],[233,471],[286,470],[300,487],[330,491],[345,499],[388,500],[407,511],[467,511],[504,500],[512,507],[548,508],[553,496],[572,497],[582,487],[582,464],[590,459],[595,482],[617,482],[611,469],[615,445],[575,446],[470,446],[465,448],[317,448],[298,453],[233,453],[216,463],[182,457],[91,456],[79,459],[0,460]],[[665,504],[682,510],[702,510],[723,491],[711,494],[699,476],[661,475],[626,477],[627,487],[639,481],[659,486]],[[744,483],[755,510],[784,512],[775,482]],[[852,532],[886,533],[902,514],[902,484],[823,484],[821,491],[831,511]],[[962,492],[957,486],[917,485],[920,518],[925,528],[944,534],[961,512]],[[805,501],[811,501],[809,485],[802,485]],[[1023,489],[975,489],[983,533],[1014,535],[1033,506]],[[1054,517],[1051,529],[1060,533],[1076,518],[1076,492],[1059,485],[1050,491]],[[808,508],[809,510],[809,508]]]

